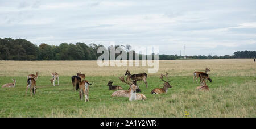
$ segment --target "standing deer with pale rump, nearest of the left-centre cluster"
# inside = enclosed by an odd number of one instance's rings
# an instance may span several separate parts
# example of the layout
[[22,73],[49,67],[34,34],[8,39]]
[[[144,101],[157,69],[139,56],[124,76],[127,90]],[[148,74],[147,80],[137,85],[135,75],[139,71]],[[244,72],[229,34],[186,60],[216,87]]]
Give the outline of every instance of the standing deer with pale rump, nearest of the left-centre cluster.
[[90,84],[86,80],[79,82],[79,89],[80,89],[79,97],[81,101],[82,101],[83,95],[84,95],[85,102],[89,101],[89,85],[92,85],[92,84]]

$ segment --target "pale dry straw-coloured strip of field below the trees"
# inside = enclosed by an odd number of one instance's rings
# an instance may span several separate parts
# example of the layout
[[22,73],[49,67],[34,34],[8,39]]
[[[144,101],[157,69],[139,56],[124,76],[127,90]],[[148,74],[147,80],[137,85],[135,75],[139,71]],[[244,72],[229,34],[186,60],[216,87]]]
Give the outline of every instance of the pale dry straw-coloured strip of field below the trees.
[[216,60],[159,60],[158,73],[148,73],[149,67],[100,67],[97,61],[0,61],[0,76],[27,76],[40,72],[40,76],[72,76],[76,72],[86,76],[122,76],[126,69],[131,73],[146,72],[149,76],[159,76],[169,72],[170,76],[193,76],[194,71],[210,68],[210,76],[255,76],[256,65],[253,59]]

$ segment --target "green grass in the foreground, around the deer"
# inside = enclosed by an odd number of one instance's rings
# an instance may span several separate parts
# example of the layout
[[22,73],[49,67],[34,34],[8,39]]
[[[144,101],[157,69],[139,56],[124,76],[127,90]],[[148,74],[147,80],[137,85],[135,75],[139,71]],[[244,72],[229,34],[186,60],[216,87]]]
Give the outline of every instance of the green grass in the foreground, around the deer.
[[[90,76],[89,102],[81,101],[73,91],[71,77],[60,76],[60,86],[53,87],[50,76],[39,76],[36,97],[25,97],[26,77],[0,77],[1,85],[16,79],[15,88],[0,89],[0,117],[255,117],[256,77],[211,77],[210,91],[195,91],[193,77],[170,77],[173,86],[166,94],[152,95],[163,84],[158,76],[147,78],[148,88],[139,82],[146,101],[110,97],[106,84],[128,89],[118,77]],[[57,83],[56,83],[57,84]]]

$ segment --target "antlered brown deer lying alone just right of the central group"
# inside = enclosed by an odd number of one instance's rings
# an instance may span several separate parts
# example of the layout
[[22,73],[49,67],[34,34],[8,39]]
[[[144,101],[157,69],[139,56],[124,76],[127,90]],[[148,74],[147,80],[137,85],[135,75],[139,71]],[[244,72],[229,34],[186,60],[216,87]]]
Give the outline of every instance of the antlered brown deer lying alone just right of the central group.
[[[163,76],[166,76],[167,81],[163,80]],[[170,81],[168,81],[168,73],[166,75],[161,74],[160,79],[164,82],[163,88],[155,88],[151,91],[151,94],[162,94],[162,93],[167,93],[168,88],[172,88],[172,86],[169,84]]]

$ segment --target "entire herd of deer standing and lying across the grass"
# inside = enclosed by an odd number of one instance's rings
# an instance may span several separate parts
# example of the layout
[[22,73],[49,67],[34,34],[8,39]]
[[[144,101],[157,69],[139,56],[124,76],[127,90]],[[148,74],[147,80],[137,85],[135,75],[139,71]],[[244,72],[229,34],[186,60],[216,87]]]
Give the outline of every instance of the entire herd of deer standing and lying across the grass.
[[[196,90],[202,90],[202,91],[209,91],[209,87],[206,85],[206,81],[209,80],[210,82],[212,82],[212,79],[209,78],[209,74],[207,72],[209,72],[210,69],[206,68],[205,72],[194,72],[194,78],[193,78],[193,82],[196,79],[196,83],[197,82],[197,78],[200,78],[200,86],[198,86],[196,88]],[[30,88],[30,95],[32,96],[32,93],[34,95],[36,95],[36,80],[38,79],[39,76],[39,72],[36,72],[35,74],[29,74],[27,76],[27,89],[26,89],[26,93],[25,96],[27,96],[27,90],[28,88]],[[52,79],[50,80],[51,83],[53,84],[53,86],[55,86],[55,81],[58,81],[58,85],[59,85],[59,74],[54,72],[51,74]],[[128,97],[130,101],[134,101],[134,100],[146,100],[146,96],[144,94],[141,94],[139,92],[141,92],[141,89],[139,89],[139,86],[137,84],[137,81],[143,81],[146,84],[146,88],[147,86],[147,74],[144,73],[139,73],[139,74],[131,74],[129,72],[129,70],[126,70],[125,76],[127,76],[126,80],[125,77],[121,76],[119,77],[119,80],[121,80],[123,83],[129,85],[129,89],[128,90],[123,90],[123,88],[121,86],[115,86],[112,85],[113,81],[109,81],[107,86],[109,86],[109,90],[117,90],[114,91],[114,93],[111,95],[111,97]],[[166,76],[166,80],[163,79],[163,77]],[[85,74],[77,73],[76,76],[72,76],[72,84],[73,84],[73,91],[78,90],[79,91],[79,97],[82,100],[83,97],[85,97],[85,102],[89,101],[89,85],[90,84],[88,81],[85,80]],[[168,88],[172,88],[172,86],[170,85],[170,81],[168,80],[168,73],[166,72],[166,74],[161,74],[160,75],[160,79],[164,82],[163,83],[163,88],[155,88],[151,91],[151,94],[162,94],[162,93],[167,93]],[[4,84],[2,86],[2,88],[5,87],[15,87],[16,84],[16,80],[13,80],[13,83],[9,83],[9,84]]]

